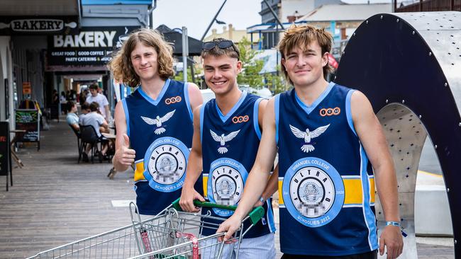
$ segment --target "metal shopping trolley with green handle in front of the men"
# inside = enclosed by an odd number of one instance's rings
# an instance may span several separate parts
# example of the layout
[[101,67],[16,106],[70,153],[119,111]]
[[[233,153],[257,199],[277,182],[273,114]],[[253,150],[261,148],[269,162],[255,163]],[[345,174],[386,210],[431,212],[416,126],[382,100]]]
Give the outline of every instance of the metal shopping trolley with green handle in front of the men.
[[[194,201],[199,207],[212,207],[235,210],[234,206],[216,205],[209,202]],[[130,204],[132,224],[107,231],[96,236],[67,243],[63,246],[43,251],[28,259],[35,258],[226,258],[226,251],[232,246],[237,251],[241,238],[259,221],[265,211],[257,207],[245,218],[251,224],[246,229],[243,224],[235,237],[228,242],[218,242],[223,233],[204,236],[204,230],[218,229],[223,219],[210,214],[201,215],[182,212],[179,199],[150,219],[140,220],[134,203]],[[198,234],[191,229],[198,228]]]

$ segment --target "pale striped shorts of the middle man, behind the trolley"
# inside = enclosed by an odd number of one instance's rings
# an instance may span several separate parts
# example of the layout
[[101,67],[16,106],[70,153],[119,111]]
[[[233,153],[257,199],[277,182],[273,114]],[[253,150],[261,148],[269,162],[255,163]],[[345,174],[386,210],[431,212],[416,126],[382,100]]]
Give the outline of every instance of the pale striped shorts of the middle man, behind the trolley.
[[213,244],[218,244],[217,238],[199,243],[199,248],[203,248],[201,249],[201,259],[233,259],[237,257],[237,253],[238,259],[275,258],[274,233],[257,238],[243,238],[239,250],[237,243],[225,244],[221,252],[221,257],[218,257],[220,245],[213,246]]

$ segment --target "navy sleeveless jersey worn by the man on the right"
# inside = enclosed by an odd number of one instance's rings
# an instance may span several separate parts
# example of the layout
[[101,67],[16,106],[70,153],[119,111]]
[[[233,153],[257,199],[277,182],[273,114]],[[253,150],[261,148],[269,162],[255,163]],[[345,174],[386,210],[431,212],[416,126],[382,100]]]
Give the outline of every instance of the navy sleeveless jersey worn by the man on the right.
[[330,83],[311,106],[294,89],[274,99],[283,253],[340,256],[378,248],[374,177],[352,123],[352,92]]

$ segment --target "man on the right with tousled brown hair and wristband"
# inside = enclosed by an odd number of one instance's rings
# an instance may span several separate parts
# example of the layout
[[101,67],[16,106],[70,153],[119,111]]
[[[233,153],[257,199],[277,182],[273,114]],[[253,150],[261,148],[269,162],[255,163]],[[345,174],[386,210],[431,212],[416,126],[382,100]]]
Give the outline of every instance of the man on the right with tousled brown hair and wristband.
[[[326,81],[331,44],[310,25],[294,25],[280,40],[282,72],[294,89],[267,103],[255,166],[218,231],[228,231],[226,239],[240,226],[278,151],[282,258],[377,258],[386,247],[394,259],[403,249],[394,165],[365,95]],[[375,180],[387,221],[379,242]]]

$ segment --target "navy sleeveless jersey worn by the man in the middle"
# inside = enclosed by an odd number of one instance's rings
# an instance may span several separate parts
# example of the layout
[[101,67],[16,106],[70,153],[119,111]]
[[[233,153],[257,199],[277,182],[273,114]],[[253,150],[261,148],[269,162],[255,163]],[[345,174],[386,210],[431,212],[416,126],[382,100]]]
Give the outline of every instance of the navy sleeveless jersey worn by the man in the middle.
[[[204,194],[211,202],[237,205],[240,201],[260,145],[258,108],[261,100],[259,96],[244,91],[226,116],[219,110],[216,99],[209,100],[201,108]],[[270,200],[263,207],[265,217],[245,234],[245,238],[255,238],[275,231]],[[233,214],[226,209],[202,209],[202,214],[208,211],[212,216],[221,218]],[[245,228],[248,226],[250,224],[245,224]],[[204,229],[206,236],[215,232]]]

